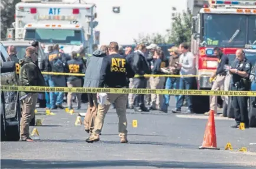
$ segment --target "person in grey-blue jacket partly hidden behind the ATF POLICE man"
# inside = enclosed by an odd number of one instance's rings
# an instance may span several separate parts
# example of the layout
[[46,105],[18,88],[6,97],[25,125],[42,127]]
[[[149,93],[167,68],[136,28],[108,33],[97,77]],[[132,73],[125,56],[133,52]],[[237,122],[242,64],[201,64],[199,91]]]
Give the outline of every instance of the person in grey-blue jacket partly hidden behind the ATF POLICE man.
[[[93,52],[86,62],[86,74],[84,76],[84,87],[100,87],[101,66],[103,58],[109,55],[107,45],[102,45],[100,50]],[[97,114],[98,101],[96,93],[88,93],[88,108],[84,117],[84,130],[91,134],[94,129],[94,121]]]

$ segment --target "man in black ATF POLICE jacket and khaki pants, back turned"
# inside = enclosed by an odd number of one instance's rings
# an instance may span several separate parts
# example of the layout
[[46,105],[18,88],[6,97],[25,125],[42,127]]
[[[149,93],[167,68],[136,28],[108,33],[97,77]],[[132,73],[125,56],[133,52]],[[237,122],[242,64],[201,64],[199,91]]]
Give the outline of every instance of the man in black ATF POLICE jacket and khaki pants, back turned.
[[[126,63],[124,56],[118,53],[119,45],[117,42],[110,42],[109,45],[109,56],[103,58],[103,65],[101,66],[100,72],[100,87],[112,87],[112,88],[126,88],[127,80],[126,77],[134,77],[134,72],[129,63]],[[121,143],[127,143],[127,119],[126,119],[126,103],[127,94],[104,94],[97,93],[97,97],[100,100],[102,97],[106,97],[105,103],[100,103],[98,105],[98,111],[96,120],[94,123],[93,133],[87,138],[88,143],[100,140],[100,131],[103,127],[104,117],[111,103],[116,103],[116,111],[119,118],[119,137],[121,138]]]

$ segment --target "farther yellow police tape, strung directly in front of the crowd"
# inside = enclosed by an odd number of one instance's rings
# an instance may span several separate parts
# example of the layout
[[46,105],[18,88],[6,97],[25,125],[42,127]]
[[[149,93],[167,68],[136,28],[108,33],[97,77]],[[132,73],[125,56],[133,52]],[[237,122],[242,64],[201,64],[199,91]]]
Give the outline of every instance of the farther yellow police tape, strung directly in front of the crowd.
[[[84,76],[84,73],[42,72],[42,75]],[[199,75],[135,75],[134,77],[198,77]],[[209,76],[209,75],[206,75]]]

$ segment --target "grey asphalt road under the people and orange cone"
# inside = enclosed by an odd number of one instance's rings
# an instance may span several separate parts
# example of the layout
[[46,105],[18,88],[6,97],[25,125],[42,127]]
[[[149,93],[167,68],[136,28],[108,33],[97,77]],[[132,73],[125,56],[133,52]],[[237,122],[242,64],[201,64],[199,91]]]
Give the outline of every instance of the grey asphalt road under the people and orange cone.
[[[174,100],[174,99],[172,99]],[[129,143],[120,144],[117,115],[106,116],[100,141],[86,143],[83,126],[75,126],[78,112],[52,111],[54,116],[39,115],[40,140],[34,143],[2,142],[1,168],[255,168],[256,129],[231,129],[234,120],[216,117],[217,146],[221,150],[199,150],[207,118],[204,115],[172,114],[127,110]],[[171,109],[172,107],[170,107]],[[83,119],[82,119],[83,120]],[[137,128],[132,127],[137,120]],[[32,131],[34,127],[31,127]],[[233,151],[224,150],[230,142]],[[247,147],[248,152],[238,149]]]

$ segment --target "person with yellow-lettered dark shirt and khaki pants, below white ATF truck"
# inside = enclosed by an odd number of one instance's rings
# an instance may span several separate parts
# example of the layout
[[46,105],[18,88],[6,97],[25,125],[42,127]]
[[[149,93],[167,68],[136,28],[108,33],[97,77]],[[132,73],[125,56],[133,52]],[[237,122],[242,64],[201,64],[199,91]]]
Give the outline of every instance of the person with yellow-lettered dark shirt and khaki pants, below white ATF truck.
[[[84,64],[83,61],[78,58],[77,52],[71,52],[71,60],[68,60],[67,70],[69,73],[84,73]],[[67,86],[68,87],[81,87],[82,79],[81,76],[68,76],[67,77]],[[72,92],[68,92],[67,103],[68,109],[73,109],[72,106]],[[81,109],[81,93],[76,93],[77,96],[77,109]]]

